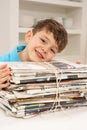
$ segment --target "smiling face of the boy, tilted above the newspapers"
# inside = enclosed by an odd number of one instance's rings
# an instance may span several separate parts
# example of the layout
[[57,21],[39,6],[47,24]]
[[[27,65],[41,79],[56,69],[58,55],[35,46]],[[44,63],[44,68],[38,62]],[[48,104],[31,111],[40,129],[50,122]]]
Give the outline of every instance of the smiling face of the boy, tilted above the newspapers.
[[42,30],[35,35],[30,34],[28,38],[27,59],[29,61],[48,62],[51,61],[58,52],[58,46],[51,32]]

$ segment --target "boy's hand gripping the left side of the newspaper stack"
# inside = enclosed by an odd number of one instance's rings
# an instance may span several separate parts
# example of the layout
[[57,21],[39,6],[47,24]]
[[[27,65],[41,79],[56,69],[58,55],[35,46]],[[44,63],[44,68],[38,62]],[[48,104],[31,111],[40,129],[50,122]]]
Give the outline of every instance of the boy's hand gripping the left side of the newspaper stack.
[[0,89],[8,87],[10,85],[11,71],[7,64],[0,65]]

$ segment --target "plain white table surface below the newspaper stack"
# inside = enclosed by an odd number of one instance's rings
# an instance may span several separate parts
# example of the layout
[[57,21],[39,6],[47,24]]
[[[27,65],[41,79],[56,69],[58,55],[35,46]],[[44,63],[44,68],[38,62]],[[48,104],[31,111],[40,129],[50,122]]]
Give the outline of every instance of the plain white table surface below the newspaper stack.
[[43,113],[22,119],[0,109],[1,130],[87,130],[87,107]]

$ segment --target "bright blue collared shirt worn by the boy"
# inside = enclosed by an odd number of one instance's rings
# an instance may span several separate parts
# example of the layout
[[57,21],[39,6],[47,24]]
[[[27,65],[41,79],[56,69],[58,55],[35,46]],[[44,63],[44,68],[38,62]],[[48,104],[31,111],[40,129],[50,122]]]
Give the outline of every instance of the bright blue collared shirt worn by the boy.
[[19,62],[18,52],[22,51],[25,45],[15,47],[10,53],[0,56],[0,62]]

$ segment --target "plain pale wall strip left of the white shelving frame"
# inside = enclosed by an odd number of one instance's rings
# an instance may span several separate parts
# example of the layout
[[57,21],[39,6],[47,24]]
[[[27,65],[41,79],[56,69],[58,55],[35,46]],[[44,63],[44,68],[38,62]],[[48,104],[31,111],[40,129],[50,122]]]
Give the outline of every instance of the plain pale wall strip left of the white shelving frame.
[[10,11],[9,0],[0,0],[0,55],[10,48]]

